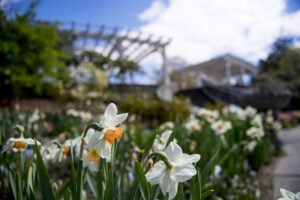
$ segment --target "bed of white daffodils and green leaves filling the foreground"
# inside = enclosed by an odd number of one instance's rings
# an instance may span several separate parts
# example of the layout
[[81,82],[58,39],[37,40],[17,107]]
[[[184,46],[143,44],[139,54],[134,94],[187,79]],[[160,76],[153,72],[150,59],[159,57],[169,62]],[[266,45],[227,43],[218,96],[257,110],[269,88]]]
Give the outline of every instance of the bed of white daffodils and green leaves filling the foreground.
[[1,192],[10,199],[259,199],[256,170],[274,155],[275,118],[250,107],[195,108],[192,117],[151,128],[135,113],[126,120],[113,103],[103,110],[100,121],[76,110],[39,111],[39,119],[0,112]]

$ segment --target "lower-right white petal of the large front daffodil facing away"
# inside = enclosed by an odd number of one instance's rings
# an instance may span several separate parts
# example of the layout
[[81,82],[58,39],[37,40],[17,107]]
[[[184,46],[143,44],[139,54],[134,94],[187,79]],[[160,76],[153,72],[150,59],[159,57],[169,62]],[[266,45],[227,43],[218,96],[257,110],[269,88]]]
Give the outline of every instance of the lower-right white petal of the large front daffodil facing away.
[[171,171],[171,179],[176,182],[185,182],[195,176],[197,171],[193,164],[187,164],[180,167],[175,167]]

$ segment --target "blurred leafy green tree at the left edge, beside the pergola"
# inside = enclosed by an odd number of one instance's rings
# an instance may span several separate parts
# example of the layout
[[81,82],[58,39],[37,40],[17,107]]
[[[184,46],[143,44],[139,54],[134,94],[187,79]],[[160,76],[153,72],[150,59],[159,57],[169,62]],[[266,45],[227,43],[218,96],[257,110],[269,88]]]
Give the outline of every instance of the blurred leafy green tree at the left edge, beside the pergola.
[[55,96],[68,79],[66,55],[59,50],[53,26],[34,21],[34,7],[10,19],[0,9],[0,97]]

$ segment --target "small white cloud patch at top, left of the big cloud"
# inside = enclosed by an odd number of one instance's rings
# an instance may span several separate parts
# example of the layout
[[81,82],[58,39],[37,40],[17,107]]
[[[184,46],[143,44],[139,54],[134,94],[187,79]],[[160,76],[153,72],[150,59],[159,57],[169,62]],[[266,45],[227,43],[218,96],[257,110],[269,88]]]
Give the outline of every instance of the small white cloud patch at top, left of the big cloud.
[[165,9],[166,5],[162,2],[162,0],[155,0],[147,10],[139,15],[139,19],[141,21],[155,20],[165,11]]

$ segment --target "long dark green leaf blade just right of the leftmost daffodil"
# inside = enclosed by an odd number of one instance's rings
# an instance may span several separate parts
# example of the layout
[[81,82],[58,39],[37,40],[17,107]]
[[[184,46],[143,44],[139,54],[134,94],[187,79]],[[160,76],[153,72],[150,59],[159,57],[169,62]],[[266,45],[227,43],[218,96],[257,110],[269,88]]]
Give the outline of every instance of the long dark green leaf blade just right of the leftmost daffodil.
[[39,183],[42,192],[43,199],[55,200],[55,196],[52,190],[51,181],[44,165],[41,153],[38,149],[38,146],[35,141],[34,146],[35,154],[36,154],[36,162],[37,162],[37,171],[39,176]]

